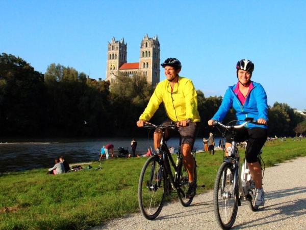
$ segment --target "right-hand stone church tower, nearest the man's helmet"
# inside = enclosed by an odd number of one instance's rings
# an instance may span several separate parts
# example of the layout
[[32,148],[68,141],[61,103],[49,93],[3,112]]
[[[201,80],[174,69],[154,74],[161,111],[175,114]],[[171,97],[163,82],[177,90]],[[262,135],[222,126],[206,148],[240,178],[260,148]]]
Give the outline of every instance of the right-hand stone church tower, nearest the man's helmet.
[[160,44],[157,35],[149,38],[146,34],[140,42],[139,73],[151,85],[160,81]]

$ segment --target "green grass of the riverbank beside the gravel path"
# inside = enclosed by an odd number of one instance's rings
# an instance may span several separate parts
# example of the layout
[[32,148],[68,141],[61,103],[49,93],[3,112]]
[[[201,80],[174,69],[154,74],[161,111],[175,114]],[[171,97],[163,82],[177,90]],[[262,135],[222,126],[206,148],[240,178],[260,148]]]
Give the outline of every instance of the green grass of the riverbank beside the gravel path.
[[[266,166],[306,155],[306,139],[268,142]],[[243,151],[241,151],[242,153]],[[113,159],[93,169],[46,175],[46,169],[0,174],[0,229],[84,229],[138,212],[139,174],[146,158]],[[196,155],[197,193],[212,189],[222,152]],[[268,176],[268,175],[266,175]],[[176,197],[175,194],[172,195]]]

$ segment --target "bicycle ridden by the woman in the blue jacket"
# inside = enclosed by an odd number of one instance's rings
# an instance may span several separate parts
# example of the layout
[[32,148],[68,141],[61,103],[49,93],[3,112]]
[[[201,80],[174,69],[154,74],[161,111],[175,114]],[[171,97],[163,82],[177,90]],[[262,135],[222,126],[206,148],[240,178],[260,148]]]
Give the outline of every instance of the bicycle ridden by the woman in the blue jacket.
[[[237,122],[237,120],[230,123]],[[218,225],[223,229],[229,229],[233,226],[240,199],[247,200],[249,208],[256,212],[259,206],[255,205],[256,187],[248,169],[246,159],[240,167],[239,150],[236,142],[236,129],[242,128],[247,123],[258,124],[252,119],[244,121],[240,125],[223,125],[215,121],[213,125],[219,125],[224,128],[222,138],[225,131],[229,130],[233,134],[232,147],[228,147],[228,156],[224,157],[223,163],[218,169],[215,185],[214,185],[214,212]],[[223,149],[224,151],[224,149]],[[258,162],[262,168],[262,178],[264,177],[265,163],[261,157],[262,150],[258,154]]]

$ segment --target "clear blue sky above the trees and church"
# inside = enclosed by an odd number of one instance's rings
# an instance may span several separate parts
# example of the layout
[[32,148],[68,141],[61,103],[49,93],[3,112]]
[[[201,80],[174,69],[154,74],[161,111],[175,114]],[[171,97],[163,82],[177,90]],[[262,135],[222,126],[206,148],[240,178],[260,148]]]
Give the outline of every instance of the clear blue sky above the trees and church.
[[[254,62],[268,104],[306,109],[306,1],[0,0],[0,53],[45,73],[51,63],[105,79],[107,43],[127,42],[139,61],[145,34],[158,35],[161,61],[179,58],[181,75],[208,96],[236,83],[235,66]],[[164,79],[161,71],[161,80]]]

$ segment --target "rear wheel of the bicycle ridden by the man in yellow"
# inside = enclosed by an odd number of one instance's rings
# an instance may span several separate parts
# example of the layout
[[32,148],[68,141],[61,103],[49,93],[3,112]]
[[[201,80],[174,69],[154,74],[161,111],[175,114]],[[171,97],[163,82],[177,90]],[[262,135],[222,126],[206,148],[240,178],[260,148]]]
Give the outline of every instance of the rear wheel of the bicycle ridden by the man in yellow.
[[[188,191],[188,181],[189,181],[189,177],[188,177],[188,173],[187,170],[184,167],[184,164],[181,163],[180,166],[180,176],[179,176],[179,189],[177,189],[177,196],[179,197],[179,200],[181,202],[181,204],[184,207],[187,207],[191,204],[193,197],[188,198],[186,197],[187,191]],[[194,182],[196,183],[196,166],[194,163]]]

